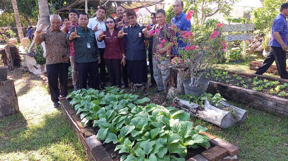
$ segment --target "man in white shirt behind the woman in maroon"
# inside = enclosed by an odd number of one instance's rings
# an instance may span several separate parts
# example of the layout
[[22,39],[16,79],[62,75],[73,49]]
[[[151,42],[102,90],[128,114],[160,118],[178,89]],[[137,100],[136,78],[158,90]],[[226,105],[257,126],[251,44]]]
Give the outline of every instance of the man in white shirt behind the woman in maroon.
[[[89,19],[87,27],[94,31],[96,38],[98,38],[102,30],[106,31],[105,21],[103,19],[105,17],[105,14],[106,14],[106,9],[103,6],[98,6],[97,11],[96,11],[96,17]],[[103,55],[105,52],[105,43],[104,41],[99,42],[97,40],[97,45],[100,51],[101,60],[104,60]],[[100,68],[100,84],[101,84],[100,87],[102,89],[105,89],[105,87],[107,86],[105,84],[106,67],[105,67],[104,61],[101,61],[101,63],[99,64],[99,68]]]

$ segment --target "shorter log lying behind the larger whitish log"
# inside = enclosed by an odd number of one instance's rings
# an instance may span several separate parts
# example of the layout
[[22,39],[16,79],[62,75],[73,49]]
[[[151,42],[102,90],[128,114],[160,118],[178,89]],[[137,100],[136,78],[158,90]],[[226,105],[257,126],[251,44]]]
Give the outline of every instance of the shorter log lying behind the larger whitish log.
[[232,116],[235,118],[236,124],[237,125],[241,125],[246,119],[247,119],[247,115],[248,112],[245,109],[240,109],[238,107],[229,105],[228,103],[224,102],[224,101],[220,101],[220,104],[226,108],[232,108],[233,109],[233,113]]

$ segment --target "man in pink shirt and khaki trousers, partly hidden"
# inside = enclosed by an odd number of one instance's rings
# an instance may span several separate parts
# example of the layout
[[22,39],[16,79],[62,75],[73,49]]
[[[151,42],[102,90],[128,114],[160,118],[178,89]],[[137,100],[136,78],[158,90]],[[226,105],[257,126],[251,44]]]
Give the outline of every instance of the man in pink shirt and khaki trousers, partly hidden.
[[[72,28],[78,27],[78,14],[79,12],[76,9],[70,9],[69,21],[65,23],[65,26],[63,26],[61,30],[68,34]],[[79,82],[78,73],[75,67],[75,50],[73,42],[70,42],[70,62],[72,66],[72,84],[74,86],[74,91],[77,91],[79,89]]]

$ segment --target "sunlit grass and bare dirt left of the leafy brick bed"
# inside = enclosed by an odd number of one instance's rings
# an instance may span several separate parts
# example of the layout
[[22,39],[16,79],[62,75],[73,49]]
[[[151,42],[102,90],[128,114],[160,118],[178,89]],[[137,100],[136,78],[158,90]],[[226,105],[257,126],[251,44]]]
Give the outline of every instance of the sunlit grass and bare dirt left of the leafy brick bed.
[[81,142],[35,74],[14,70],[20,112],[0,119],[0,160],[88,160]]

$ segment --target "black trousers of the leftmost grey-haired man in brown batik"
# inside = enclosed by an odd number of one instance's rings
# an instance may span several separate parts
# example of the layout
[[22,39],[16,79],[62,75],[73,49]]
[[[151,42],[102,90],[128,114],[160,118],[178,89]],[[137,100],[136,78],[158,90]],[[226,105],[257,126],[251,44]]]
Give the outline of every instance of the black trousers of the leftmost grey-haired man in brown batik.
[[[66,97],[68,87],[68,63],[47,64],[48,85],[53,103],[59,101],[59,97]],[[58,89],[58,78],[60,82],[60,92]]]

